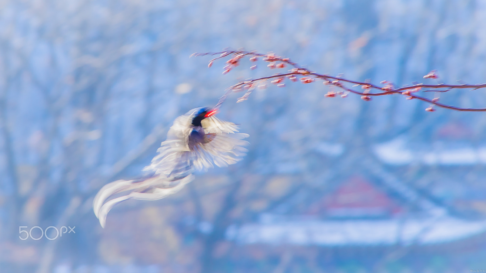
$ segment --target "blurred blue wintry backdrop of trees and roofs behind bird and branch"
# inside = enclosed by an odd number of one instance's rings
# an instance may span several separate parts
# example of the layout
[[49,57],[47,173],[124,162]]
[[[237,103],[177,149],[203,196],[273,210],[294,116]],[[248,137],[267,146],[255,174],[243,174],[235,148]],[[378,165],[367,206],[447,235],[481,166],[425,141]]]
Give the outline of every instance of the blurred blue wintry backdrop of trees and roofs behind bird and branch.
[[[0,1],[0,272],[486,271],[485,114],[325,98],[320,82],[232,95],[218,117],[250,135],[243,161],[122,203],[104,229],[92,211],[177,116],[276,72],[243,61],[222,75],[223,61],[191,53],[243,47],[377,84],[432,69],[476,84],[485,18],[481,0]],[[20,226],[76,233],[21,240]]]

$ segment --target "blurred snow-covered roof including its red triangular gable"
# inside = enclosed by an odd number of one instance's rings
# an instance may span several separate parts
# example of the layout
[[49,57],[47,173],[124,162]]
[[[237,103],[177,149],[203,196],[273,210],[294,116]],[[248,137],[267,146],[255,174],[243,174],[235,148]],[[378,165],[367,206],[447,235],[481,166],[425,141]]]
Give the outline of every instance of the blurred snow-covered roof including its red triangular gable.
[[[226,238],[241,244],[353,247],[438,244],[486,232],[486,221],[453,217],[406,185],[372,181],[352,176],[303,210],[280,209],[261,214],[259,222],[232,225]],[[412,200],[419,201],[418,209],[406,204]]]

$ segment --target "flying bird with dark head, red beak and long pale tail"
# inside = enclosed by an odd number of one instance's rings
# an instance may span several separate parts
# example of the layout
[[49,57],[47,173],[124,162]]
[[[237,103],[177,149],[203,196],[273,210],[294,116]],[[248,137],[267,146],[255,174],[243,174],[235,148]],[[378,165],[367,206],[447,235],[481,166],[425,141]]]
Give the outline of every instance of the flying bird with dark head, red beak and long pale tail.
[[[242,159],[247,134],[238,133],[238,125],[214,116],[217,109],[194,108],[176,118],[160,144],[150,165],[139,179],[117,180],[98,191],[93,210],[104,227],[108,211],[128,200],[158,200],[179,191],[194,179],[195,171],[226,167]],[[114,195],[123,193],[120,197]],[[112,199],[110,199],[112,198]]]

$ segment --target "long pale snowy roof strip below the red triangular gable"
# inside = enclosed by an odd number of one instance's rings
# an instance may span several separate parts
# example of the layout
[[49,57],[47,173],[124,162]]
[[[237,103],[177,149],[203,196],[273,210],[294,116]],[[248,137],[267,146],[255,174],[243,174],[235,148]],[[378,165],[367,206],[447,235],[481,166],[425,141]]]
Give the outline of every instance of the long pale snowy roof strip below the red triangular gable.
[[435,244],[486,232],[486,221],[450,216],[390,220],[282,221],[230,226],[226,239],[242,244],[376,246]]

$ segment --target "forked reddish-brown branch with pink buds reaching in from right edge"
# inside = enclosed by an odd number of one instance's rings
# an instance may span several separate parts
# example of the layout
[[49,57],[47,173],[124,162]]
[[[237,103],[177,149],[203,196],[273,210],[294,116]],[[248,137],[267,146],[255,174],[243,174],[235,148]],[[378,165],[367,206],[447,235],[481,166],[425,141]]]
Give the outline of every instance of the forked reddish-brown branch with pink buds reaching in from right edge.
[[[392,95],[392,94],[400,94],[406,96],[407,100],[417,99],[423,102],[429,102],[431,105],[426,108],[426,111],[433,112],[435,111],[434,106],[456,110],[456,111],[469,111],[469,112],[484,112],[486,108],[463,108],[453,105],[447,105],[444,103],[439,102],[439,96],[437,94],[445,93],[454,89],[481,89],[486,88],[486,84],[479,84],[479,85],[468,85],[468,84],[460,84],[460,85],[446,85],[446,84],[436,84],[436,85],[425,85],[422,83],[417,83],[410,86],[403,86],[397,88],[393,85],[393,83],[388,81],[382,81],[383,86],[373,85],[368,81],[365,82],[358,82],[352,81],[348,79],[344,79],[341,76],[330,76],[326,74],[319,74],[317,72],[311,71],[308,68],[303,68],[299,66],[297,63],[292,62],[289,58],[283,58],[280,56],[275,55],[274,53],[262,54],[256,51],[243,51],[243,50],[232,50],[232,51],[221,51],[221,52],[208,52],[208,53],[194,53],[191,56],[205,56],[205,55],[217,55],[220,56],[213,58],[209,61],[208,67],[211,67],[214,61],[218,59],[224,59],[230,57],[229,60],[226,61],[226,66],[223,74],[228,73],[231,69],[237,67],[243,57],[249,57],[250,61],[257,62],[258,58],[262,58],[264,62],[267,62],[267,67],[269,68],[285,68],[287,66],[292,67],[286,73],[276,73],[271,76],[261,77],[257,79],[248,79],[238,84],[230,86],[226,93],[221,97],[218,104],[216,104],[215,108],[219,108],[221,104],[226,100],[226,97],[231,92],[240,92],[246,90],[244,95],[238,99],[237,102],[242,102],[246,100],[252,91],[258,86],[259,88],[265,88],[266,83],[268,80],[272,80],[271,83],[278,85],[279,87],[284,87],[285,79],[289,79],[292,82],[300,81],[303,84],[309,84],[314,82],[316,79],[322,80],[324,85],[330,86],[330,91],[325,95],[326,97],[335,97],[336,95],[340,95],[341,97],[345,98],[349,93],[354,93],[357,95],[361,95],[361,99],[364,101],[370,101],[371,97],[375,96],[384,96],[384,95]],[[254,65],[251,69],[255,69],[257,66]],[[429,74],[424,76],[424,79],[438,79],[438,75],[435,71],[431,71]],[[352,85],[352,86],[349,86]],[[361,86],[363,91],[358,91],[353,89],[352,87]],[[332,87],[336,87],[340,89],[339,91],[335,92],[332,90]],[[434,92],[435,97],[433,99],[427,98],[425,94],[428,92]],[[418,95],[421,94],[421,95]],[[423,95],[422,95],[423,94]]]

